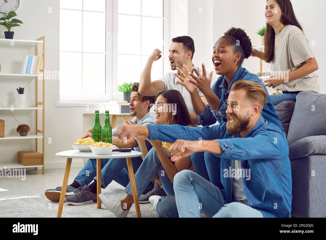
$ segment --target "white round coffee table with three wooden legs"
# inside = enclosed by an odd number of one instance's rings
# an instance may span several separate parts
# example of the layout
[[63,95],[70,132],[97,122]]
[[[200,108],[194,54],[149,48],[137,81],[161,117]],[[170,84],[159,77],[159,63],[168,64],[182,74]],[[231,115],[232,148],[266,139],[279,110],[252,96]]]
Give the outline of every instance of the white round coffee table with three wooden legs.
[[96,155],[96,154],[93,154],[93,152],[79,152],[78,150],[68,150],[68,151],[64,151],[64,152],[57,152],[57,153],[55,153],[55,155],[58,157],[67,158],[65,175],[63,178],[63,182],[62,182],[62,189],[61,189],[57,217],[61,217],[61,214],[62,214],[62,208],[63,208],[63,203],[64,203],[65,195],[66,195],[70,166],[71,166],[71,161],[73,158],[96,158],[97,208],[101,208],[101,200],[99,199],[98,195],[101,193],[101,187],[102,187],[101,186],[101,182],[102,182],[101,181],[101,160],[102,160],[102,158],[126,158],[128,172],[129,172],[129,178],[130,178],[130,184],[131,184],[131,189],[132,189],[132,195],[134,197],[134,202],[135,202],[136,214],[137,214],[137,217],[141,217],[141,210],[139,208],[134,169],[132,168],[132,163],[131,163],[131,158],[141,156],[141,152],[132,150],[131,152],[112,152],[111,154],[108,154],[108,155]]

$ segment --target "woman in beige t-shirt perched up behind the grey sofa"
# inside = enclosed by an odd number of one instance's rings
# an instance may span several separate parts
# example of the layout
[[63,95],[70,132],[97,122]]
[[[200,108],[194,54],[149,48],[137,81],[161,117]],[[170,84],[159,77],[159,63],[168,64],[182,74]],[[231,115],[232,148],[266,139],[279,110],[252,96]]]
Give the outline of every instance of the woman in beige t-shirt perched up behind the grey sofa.
[[268,0],[265,9],[265,52],[253,49],[252,56],[271,63],[265,86],[283,91],[270,96],[273,105],[295,102],[301,91],[320,92],[318,64],[290,0]]

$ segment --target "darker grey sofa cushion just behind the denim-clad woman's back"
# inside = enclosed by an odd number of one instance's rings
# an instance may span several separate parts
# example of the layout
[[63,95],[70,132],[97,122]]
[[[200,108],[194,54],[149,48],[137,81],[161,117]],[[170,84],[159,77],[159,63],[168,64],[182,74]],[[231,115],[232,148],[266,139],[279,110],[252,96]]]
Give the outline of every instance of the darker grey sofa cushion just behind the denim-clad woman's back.
[[289,125],[294,111],[295,102],[284,101],[277,104],[275,107],[275,112],[281,120],[281,124],[284,128],[285,134],[288,136]]

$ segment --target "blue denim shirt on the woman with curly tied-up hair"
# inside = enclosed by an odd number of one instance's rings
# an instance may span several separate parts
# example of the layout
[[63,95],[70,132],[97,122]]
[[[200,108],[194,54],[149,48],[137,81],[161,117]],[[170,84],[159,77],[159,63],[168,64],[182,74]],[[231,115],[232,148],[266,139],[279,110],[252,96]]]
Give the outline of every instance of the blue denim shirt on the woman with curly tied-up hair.
[[[218,105],[217,109],[213,111],[209,104],[206,105],[205,111],[200,114],[196,115],[198,120],[198,125],[202,126],[209,126],[214,124],[216,121],[219,123],[224,122],[226,120],[226,110],[228,108],[228,105],[226,103],[226,100],[229,97],[229,93],[231,91],[231,86],[233,83],[239,80],[248,80],[252,82],[257,82],[267,92],[267,89],[265,85],[262,83],[262,81],[257,77],[255,74],[248,72],[245,68],[239,67],[237,72],[234,74],[232,81],[230,83],[229,88],[227,88],[228,83],[226,82],[225,76],[221,75],[214,85],[212,86],[213,92],[216,94],[216,96],[221,100],[220,104]],[[275,108],[272,104],[272,101],[267,93],[267,105],[264,106],[262,111],[262,116],[264,119],[268,120],[269,122],[273,123],[277,127],[279,127],[282,131],[284,131],[283,126],[281,124],[280,118],[275,113]]]

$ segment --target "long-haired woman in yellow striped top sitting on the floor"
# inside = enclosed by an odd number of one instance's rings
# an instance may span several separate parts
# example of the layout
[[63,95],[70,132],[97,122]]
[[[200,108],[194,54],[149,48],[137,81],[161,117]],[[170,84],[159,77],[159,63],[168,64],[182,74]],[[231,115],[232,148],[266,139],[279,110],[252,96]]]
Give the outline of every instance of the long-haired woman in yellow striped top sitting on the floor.
[[[159,92],[156,96],[154,111],[156,124],[195,126],[190,119],[185,100],[177,90],[163,90]],[[144,143],[141,142],[139,137],[137,137],[137,140],[142,153],[144,153],[146,151]],[[169,149],[173,143],[161,142],[159,140],[151,140],[149,142],[153,145],[153,148],[147,153],[135,174],[138,196],[140,196],[150,181],[158,176],[168,196],[151,196],[149,201],[152,202],[151,198],[153,198],[152,203],[155,203],[154,206],[159,216],[177,217],[178,210],[176,209],[174,198],[173,178],[175,174],[182,170],[189,169],[194,171],[190,156],[171,162],[170,159],[173,154],[169,152]],[[108,198],[103,194],[99,195],[104,205],[117,217],[126,217],[134,203],[130,183],[125,191],[127,195],[123,200]],[[161,211],[159,210],[160,205],[164,208]]]

